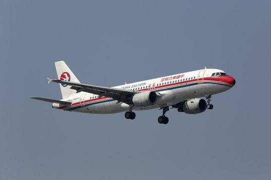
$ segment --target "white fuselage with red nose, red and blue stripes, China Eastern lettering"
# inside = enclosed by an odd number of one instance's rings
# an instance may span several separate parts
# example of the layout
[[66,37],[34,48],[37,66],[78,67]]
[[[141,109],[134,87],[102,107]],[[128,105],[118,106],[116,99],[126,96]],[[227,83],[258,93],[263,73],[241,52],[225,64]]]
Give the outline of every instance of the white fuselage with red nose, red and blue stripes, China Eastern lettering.
[[[224,72],[220,69],[201,69],[179,73],[134,83],[115,86],[114,88],[134,91],[155,91],[158,99],[153,105],[133,106],[133,110],[145,110],[174,105],[184,100],[203,97],[206,94],[216,94],[231,88],[233,77],[212,76],[213,73]],[[234,80],[234,82],[233,82]],[[129,110],[129,105],[117,100],[88,92],[78,92],[62,99],[70,101],[70,106],[57,106],[59,109],[85,113],[115,113]]]

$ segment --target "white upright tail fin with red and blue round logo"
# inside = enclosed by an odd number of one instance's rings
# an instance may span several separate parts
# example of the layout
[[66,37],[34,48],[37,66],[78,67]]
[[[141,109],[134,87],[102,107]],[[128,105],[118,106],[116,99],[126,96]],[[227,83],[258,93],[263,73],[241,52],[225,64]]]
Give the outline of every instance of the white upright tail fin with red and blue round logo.
[[[58,79],[80,83],[80,81],[76,78],[76,76],[73,74],[71,69],[63,60],[55,62],[55,65],[56,65]],[[70,89],[71,87],[70,85],[67,85],[67,84],[59,84],[59,85],[60,85],[61,94],[63,98],[66,98],[70,96],[71,94],[76,93],[76,90]]]

